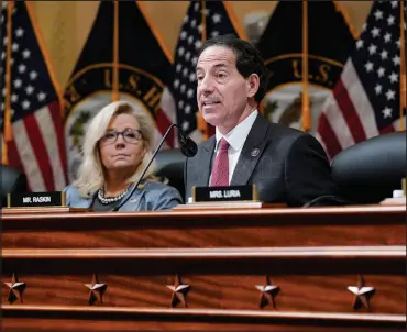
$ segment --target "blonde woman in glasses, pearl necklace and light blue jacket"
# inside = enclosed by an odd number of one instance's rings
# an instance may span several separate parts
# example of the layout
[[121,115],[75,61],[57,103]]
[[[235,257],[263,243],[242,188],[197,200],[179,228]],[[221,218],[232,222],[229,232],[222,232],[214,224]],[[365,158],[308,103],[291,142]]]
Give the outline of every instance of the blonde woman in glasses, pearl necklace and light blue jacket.
[[154,181],[154,165],[132,190],[152,156],[153,136],[153,123],[135,106],[117,101],[105,107],[89,124],[78,178],[66,188],[67,204],[94,211],[152,211],[182,203],[175,188]]

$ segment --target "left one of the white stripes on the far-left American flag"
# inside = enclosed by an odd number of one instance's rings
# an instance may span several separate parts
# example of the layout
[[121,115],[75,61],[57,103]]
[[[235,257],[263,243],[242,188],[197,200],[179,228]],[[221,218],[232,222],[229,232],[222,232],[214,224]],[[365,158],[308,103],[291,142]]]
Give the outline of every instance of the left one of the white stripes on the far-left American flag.
[[37,163],[32,142],[25,130],[24,121],[21,120],[14,122],[13,131],[14,133],[19,133],[18,135],[14,135],[15,151],[18,151],[20,155],[20,161],[24,167],[30,188],[33,190],[35,188],[36,191],[46,191],[42,171]]

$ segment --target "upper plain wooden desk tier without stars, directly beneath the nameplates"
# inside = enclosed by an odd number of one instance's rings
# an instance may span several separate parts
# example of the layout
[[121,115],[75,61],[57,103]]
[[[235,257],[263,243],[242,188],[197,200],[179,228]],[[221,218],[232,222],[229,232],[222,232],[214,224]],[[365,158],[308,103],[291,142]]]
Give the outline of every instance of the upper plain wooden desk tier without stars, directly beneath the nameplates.
[[3,215],[4,247],[402,245],[405,207]]

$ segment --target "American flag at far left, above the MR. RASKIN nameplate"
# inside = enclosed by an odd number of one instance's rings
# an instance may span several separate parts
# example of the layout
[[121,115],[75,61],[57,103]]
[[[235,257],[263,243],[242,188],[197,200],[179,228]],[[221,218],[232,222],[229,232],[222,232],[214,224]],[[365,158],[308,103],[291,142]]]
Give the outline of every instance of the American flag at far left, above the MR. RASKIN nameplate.
[[[13,9],[12,9],[12,4]],[[10,22],[7,11],[12,9]],[[11,27],[12,38],[7,37]],[[3,2],[1,9],[1,73],[6,77],[11,47],[10,87],[2,89],[1,131],[9,166],[24,171],[32,191],[62,190],[66,186],[66,156],[61,102],[45,51],[25,1]],[[12,140],[3,135],[4,100],[10,98]]]

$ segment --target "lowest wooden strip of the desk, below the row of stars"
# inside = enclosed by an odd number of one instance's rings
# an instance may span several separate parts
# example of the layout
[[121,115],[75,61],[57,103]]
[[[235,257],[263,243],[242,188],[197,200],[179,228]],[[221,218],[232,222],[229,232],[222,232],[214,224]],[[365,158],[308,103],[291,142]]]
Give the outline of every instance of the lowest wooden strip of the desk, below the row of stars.
[[[53,308],[52,310],[14,309],[3,320],[3,331],[352,331],[400,332],[405,319],[377,316],[365,319],[362,314],[338,318],[293,314],[263,314],[252,312],[209,310],[89,310],[84,307]],[[30,311],[28,316],[26,312]],[[135,311],[135,312],[134,312]],[[255,312],[256,314],[257,312]],[[30,317],[31,316],[31,317]],[[35,319],[35,320],[34,320]],[[33,324],[35,322],[35,324]]]

